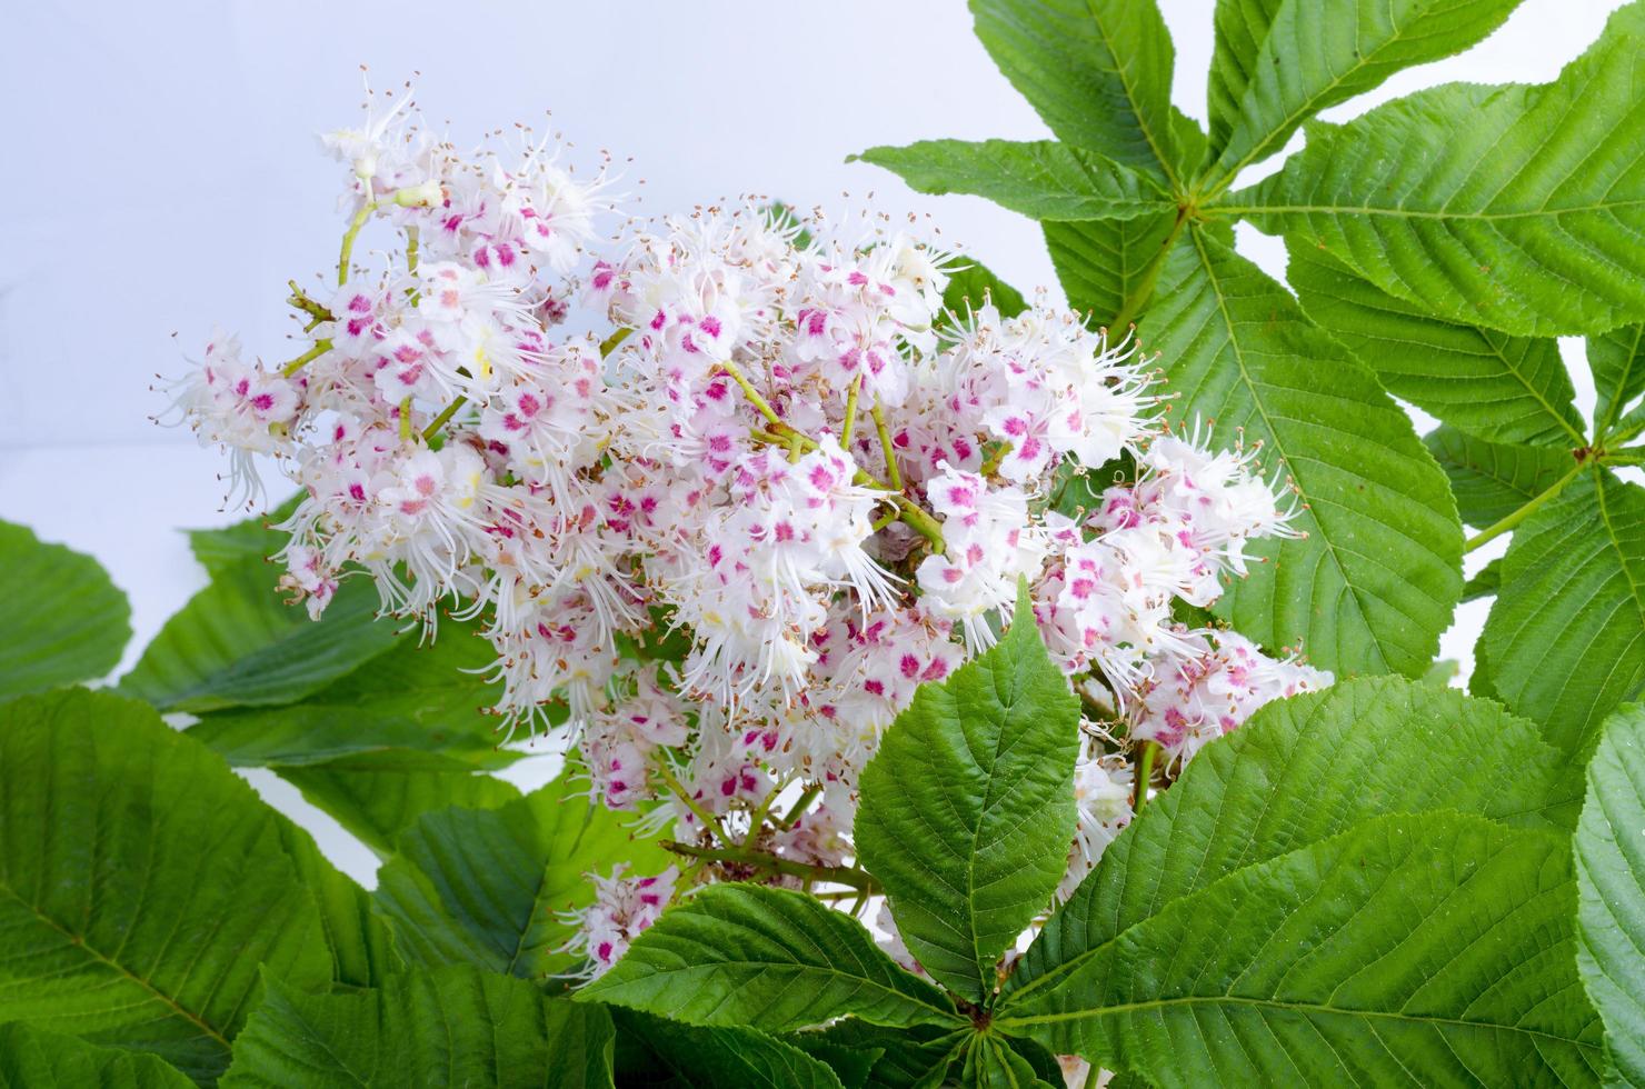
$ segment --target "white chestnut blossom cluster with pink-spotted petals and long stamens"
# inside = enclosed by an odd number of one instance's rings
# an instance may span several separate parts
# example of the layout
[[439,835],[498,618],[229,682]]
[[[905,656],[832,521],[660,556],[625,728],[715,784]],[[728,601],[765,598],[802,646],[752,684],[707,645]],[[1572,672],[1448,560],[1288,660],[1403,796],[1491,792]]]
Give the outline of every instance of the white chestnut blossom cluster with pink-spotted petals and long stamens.
[[[293,285],[304,350],[219,337],[178,405],[301,487],[280,559],[314,617],[367,577],[385,615],[477,620],[505,727],[564,709],[592,793],[673,826],[684,874],[597,883],[595,971],[732,855],[839,870],[878,735],[1018,584],[1092,716],[1064,892],[1128,819],[1115,748],[1186,760],[1329,683],[1178,619],[1293,533],[1285,500],[1255,451],[1165,429],[1147,360],[1077,314],[946,304],[961,263],[883,220],[744,202],[602,239],[604,169],[462,153],[403,102],[324,143],[349,224],[334,290]],[[357,262],[368,225],[403,247]]]

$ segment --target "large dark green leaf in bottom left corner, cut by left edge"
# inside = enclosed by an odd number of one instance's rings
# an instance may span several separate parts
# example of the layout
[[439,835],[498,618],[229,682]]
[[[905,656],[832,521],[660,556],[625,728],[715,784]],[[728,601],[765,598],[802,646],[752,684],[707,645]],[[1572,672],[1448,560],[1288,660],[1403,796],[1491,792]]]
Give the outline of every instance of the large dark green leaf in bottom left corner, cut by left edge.
[[118,696],[0,709],[0,1022],[211,1081],[258,966],[299,987],[332,969],[275,813],[243,780]]

